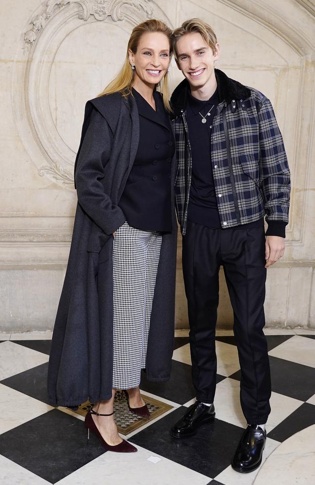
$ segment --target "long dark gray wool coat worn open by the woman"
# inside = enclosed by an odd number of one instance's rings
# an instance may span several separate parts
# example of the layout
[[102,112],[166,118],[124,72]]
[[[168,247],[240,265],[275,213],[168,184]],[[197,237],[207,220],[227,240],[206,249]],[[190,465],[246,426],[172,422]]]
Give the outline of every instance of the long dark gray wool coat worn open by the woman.
[[[95,112],[96,110],[96,112]],[[152,140],[154,143],[154,140]],[[88,101],[75,166],[78,206],[48,367],[51,404],[107,400],[112,388],[112,233],[126,217],[118,207],[139,144],[133,97],[119,93]],[[175,156],[171,181],[174,200]],[[174,207],[174,206],[173,206]],[[174,336],[177,225],[162,238],[146,375],[170,377]]]

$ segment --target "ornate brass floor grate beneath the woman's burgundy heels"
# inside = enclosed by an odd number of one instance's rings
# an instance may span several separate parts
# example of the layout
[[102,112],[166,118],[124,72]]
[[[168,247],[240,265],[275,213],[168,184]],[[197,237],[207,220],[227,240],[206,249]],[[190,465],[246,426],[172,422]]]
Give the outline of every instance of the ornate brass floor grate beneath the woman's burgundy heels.
[[[157,399],[153,399],[152,397],[148,397],[143,394],[141,395],[150,412],[149,420],[141,418],[140,416],[137,416],[136,414],[130,412],[128,409],[125,393],[120,389],[116,391],[114,401],[114,416],[118,432],[122,435],[128,435],[135,429],[143,426],[143,424],[145,424],[146,422],[154,420],[155,418],[157,418],[157,416],[160,416],[166,411],[173,409],[173,407],[169,404],[162,403]],[[85,403],[82,403],[79,406],[78,410],[75,412],[80,414],[81,416],[85,416],[89,409],[91,409],[92,407],[93,403],[86,401]]]

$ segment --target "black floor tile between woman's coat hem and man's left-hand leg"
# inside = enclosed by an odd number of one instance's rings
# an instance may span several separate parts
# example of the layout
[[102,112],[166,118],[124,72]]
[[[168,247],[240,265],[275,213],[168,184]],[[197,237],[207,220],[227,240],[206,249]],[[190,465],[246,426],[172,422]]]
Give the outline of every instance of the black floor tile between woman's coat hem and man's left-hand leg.
[[[217,375],[217,383],[225,377]],[[191,382],[191,366],[172,360],[171,378],[167,382],[149,382],[142,372],[141,389],[151,392],[178,404],[185,404],[195,397],[196,391]]]

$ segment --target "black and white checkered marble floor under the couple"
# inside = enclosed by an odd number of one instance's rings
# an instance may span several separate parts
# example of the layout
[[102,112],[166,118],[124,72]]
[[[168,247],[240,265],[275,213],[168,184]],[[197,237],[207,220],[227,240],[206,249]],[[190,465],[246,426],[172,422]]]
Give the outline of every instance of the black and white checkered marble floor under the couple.
[[[278,334],[268,330],[266,333],[271,333],[267,339],[272,411],[267,423],[264,460],[277,448],[280,450],[288,438],[294,443],[294,435],[300,436],[305,431],[305,436],[313,436],[305,428],[315,424],[315,333],[308,335],[303,330],[302,335],[281,330]],[[242,475],[230,467],[246,426],[239,404],[240,370],[231,332],[218,332],[216,338],[216,420],[201,427],[190,439],[181,441],[169,434],[173,423],[194,401],[188,338],[177,337],[171,380],[153,384],[143,374],[143,395],[165,406],[161,406],[161,414],[143,420],[140,427],[124,436],[138,448],[138,453],[130,454],[104,453],[95,436],[86,445],[82,414],[48,404],[50,340],[33,339],[31,335],[22,338],[8,335],[0,341],[1,485],[254,483],[259,470]],[[295,449],[291,452],[294,454]],[[268,484],[279,485],[269,475]]]

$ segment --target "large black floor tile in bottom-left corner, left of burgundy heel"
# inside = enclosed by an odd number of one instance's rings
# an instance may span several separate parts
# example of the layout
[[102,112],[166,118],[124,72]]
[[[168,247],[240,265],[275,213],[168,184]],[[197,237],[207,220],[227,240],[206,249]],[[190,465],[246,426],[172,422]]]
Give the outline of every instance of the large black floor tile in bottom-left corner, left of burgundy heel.
[[104,453],[83,422],[57,409],[0,435],[0,453],[54,484]]

